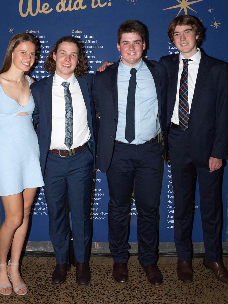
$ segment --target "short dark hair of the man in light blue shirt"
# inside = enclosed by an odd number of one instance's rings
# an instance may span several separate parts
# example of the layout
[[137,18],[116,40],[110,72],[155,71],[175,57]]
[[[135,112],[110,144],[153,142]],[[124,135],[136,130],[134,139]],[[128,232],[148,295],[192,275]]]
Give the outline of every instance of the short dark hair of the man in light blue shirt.
[[145,42],[145,30],[143,24],[136,20],[127,20],[123,22],[117,32],[117,41],[120,44],[120,39],[124,33],[136,33],[141,36],[143,43]]

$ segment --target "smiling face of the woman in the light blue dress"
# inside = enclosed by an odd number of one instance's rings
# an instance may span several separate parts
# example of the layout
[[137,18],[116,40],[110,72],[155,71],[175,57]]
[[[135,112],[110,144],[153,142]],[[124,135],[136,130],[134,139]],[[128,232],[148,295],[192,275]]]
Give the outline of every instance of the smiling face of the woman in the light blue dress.
[[12,52],[11,67],[27,72],[32,67],[35,61],[36,46],[25,41],[20,43]]

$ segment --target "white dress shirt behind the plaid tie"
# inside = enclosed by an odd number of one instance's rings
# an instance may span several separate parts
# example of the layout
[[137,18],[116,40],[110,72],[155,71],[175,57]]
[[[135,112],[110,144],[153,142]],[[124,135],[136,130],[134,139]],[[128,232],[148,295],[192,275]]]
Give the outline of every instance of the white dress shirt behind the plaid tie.
[[[189,113],[192,105],[192,98],[195,90],[195,82],[199,70],[199,62],[201,59],[201,52],[198,49],[198,52],[190,57],[192,61],[188,61],[188,106],[189,106]],[[180,81],[181,81],[181,73],[183,71],[184,62],[182,59],[185,59],[180,53],[180,64],[179,64],[179,71],[178,71],[178,80],[177,80],[177,94],[176,94],[176,102],[174,105],[173,115],[171,118],[171,122],[179,125],[179,116],[178,116],[178,108],[179,108],[179,90],[180,90]]]

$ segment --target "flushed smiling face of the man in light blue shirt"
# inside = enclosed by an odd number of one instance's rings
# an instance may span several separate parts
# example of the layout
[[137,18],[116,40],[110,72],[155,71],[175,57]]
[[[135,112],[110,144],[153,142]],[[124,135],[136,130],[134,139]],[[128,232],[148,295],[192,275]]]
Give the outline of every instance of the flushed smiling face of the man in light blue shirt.
[[135,67],[140,62],[145,48],[146,43],[136,33],[123,33],[120,43],[117,43],[117,49],[121,53],[122,62],[129,67]]

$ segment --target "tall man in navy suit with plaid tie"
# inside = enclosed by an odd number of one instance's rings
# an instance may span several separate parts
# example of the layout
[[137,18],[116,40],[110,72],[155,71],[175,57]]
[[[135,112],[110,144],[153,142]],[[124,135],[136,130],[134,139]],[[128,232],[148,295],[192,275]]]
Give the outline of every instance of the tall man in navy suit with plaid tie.
[[202,28],[192,16],[178,16],[168,28],[180,54],[161,57],[169,76],[168,146],[174,191],[177,275],[192,282],[191,225],[195,171],[199,181],[205,255],[203,264],[228,283],[222,262],[220,178],[227,158],[227,65],[205,56],[197,45]]

